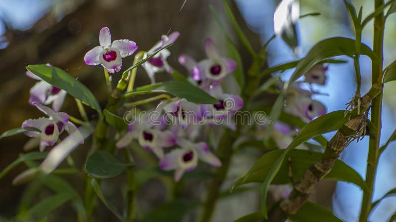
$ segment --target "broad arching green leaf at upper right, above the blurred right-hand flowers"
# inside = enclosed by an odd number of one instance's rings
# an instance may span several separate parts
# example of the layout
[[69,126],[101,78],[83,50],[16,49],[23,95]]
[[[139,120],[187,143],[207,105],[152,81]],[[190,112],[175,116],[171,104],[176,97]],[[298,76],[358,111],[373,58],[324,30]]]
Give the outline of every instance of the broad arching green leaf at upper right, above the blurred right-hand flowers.
[[[323,40],[315,44],[302,58],[296,67],[293,75],[290,77],[290,84],[304,75],[316,63],[334,56],[347,55],[352,57],[356,54],[355,41],[343,37],[335,37]],[[372,61],[378,61],[377,55],[365,44],[360,44],[360,54],[367,55]]]

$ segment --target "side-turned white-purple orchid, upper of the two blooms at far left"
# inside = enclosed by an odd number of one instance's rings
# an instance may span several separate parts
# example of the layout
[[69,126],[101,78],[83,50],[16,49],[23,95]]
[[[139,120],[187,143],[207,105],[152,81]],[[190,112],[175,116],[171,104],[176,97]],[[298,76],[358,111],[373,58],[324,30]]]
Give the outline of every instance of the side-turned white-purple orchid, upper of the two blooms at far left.
[[[51,66],[50,64],[47,65]],[[58,112],[60,108],[62,108],[67,92],[48,84],[30,71],[26,71],[26,75],[32,79],[39,80],[39,82],[30,89],[29,103],[32,105],[34,102],[44,105],[52,103],[52,109]]]

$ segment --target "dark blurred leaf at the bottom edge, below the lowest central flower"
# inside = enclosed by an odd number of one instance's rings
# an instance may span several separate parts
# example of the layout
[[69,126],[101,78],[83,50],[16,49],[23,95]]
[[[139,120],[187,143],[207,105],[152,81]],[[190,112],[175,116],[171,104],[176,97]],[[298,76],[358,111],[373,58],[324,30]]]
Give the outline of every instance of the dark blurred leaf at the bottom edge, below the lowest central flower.
[[192,206],[194,203],[185,200],[167,202],[148,213],[142,222],[182,222],[184,215]]

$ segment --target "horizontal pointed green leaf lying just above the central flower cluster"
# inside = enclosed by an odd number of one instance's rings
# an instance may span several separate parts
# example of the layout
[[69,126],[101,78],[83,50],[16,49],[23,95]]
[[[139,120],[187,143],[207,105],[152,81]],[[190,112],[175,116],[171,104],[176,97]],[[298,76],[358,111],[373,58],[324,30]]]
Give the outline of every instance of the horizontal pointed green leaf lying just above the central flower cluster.
[[134,95],[148,94],[148,93],[167,93],[179,98],[185,98],[190,102],[199,104],[217,104],[219,101],[211,95],[193,86],[190,83],[180,81],[170,81],[163,83],[156,83],[153,85],[138,87],[134,91],[127,92],[124,97],[131,97]]

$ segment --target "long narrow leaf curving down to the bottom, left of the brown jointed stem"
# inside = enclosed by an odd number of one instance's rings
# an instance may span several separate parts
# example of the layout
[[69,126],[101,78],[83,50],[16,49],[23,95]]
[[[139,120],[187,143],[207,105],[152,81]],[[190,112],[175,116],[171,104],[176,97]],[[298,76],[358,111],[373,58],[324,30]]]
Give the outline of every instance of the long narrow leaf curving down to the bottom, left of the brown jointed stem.
[[343,124],[347,121],[347,117],[344,116],[344,111],[335,111],[328,113],[326,115],[320,116],[317,119],[309,122],[305,125],[300,132],[297,134],[296,138],[288,146],[288,148],[283,151],[282,155],[276,160],[271,170],[269,171],[267,177],[265,178],[261,190],[260,190],[260,200],[261,200],[261,213],[264,218],[267,219],[267,192],[268,187],[272,180],[275,178],[276,174],[279,172],[282,162],[285,159],[287,153],[297,147],[299,144],[316,137],[318,135],[329,133],[332,131],[339,130]]

